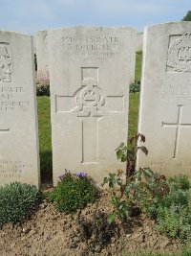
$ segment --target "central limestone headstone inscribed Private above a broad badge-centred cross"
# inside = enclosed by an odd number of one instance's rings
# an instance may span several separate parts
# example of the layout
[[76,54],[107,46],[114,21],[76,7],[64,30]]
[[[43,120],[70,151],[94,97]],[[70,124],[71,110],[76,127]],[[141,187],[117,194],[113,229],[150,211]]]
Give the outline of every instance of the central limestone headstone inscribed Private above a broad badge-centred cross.
[[127,139],[135,40],[132,28],[49,32],[54,184],[65,169],[98,183],[124,169],[115,150]]

